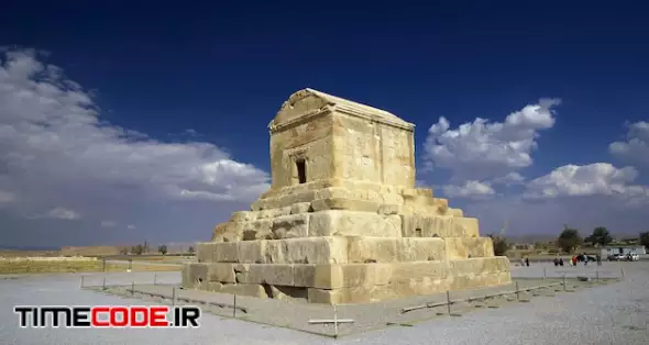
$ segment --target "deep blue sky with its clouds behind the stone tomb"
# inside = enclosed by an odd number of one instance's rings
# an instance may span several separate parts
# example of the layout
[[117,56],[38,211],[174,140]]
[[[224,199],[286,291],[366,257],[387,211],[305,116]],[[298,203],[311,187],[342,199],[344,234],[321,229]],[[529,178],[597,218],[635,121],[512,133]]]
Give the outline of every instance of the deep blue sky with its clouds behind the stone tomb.
[[646,9],[571,3],[7,7],[2,238],[209,238],[266,188],[266,125],[306,87],[415,123],[418,180],[482,233],[647,231]]

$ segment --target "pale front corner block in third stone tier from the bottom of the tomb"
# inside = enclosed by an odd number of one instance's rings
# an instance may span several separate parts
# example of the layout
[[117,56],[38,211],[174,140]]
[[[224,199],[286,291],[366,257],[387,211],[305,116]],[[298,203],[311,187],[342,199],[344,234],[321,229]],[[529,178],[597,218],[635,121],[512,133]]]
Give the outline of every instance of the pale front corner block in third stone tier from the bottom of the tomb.
[[329,210],[311,213],[309,236],[382,236],[400,237],[402,220],[398,215]]

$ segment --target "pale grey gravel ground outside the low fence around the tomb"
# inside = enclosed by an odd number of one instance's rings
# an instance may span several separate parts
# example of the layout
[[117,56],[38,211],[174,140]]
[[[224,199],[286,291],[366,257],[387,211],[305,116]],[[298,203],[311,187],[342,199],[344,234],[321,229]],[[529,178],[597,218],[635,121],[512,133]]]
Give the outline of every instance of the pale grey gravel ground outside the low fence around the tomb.
[[[12,312],[15,304],[123,305],[142,304],[142,300],[80,290],[80,275],[76,274],[3,276],[0,344],[649,344],[649,263],[604,263],[598,270],[604,277],[622,274],[622,282],[532,298],[528,303],[508,303],[499,309],[474,308],[461,318],[440,316],[414,326],[394,326],[339,340],[211,314],[204,314],[200,329],[189,330],[21,330],[18,315]],[[595,266],[556,268],[551,264],[515,267],[513,275],[542,277],[543,268],[549,277],[561,277],[563,272],[569,277],[595,276]],[[100,285],[101,277],[91,275],[84,280]],[[153,282],[151,272],[106,277],[109,283]],[[178,275],[158,272],[156,279],[161,283],[176,283]]]

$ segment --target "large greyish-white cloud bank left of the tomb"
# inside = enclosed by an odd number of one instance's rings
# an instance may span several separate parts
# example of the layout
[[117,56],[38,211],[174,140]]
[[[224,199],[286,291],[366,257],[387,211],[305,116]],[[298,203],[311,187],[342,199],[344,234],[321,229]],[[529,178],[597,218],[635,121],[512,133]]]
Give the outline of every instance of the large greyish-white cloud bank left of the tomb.
[[[268,186],[266,171],[215,144],[162,142],[107,122],[90,93],[34,51],[0,55],[0,197],[15,196],[9,203],[14,215],[82,214],[95,224],[129,224],[146,212],[145,222],[167,224],[182,219],[174,212],[185,212],[202,227],[227,215],[196,202],[218,203],[228,213]],[[189,200],[193,205],[184,207]]]

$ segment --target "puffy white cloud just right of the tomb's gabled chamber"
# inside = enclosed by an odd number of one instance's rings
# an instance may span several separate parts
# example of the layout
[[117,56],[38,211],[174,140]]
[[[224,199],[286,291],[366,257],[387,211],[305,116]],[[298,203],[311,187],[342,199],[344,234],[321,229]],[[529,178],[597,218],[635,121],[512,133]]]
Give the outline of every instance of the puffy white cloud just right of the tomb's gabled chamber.
[[558,99],[541,99],[510,113],[504,122],[477,118],[451,129],[446,118],[430,126],[424,159],[428,168],[447,168],[454,180],[493,179],[528,167],[539,131],[554,125]]

